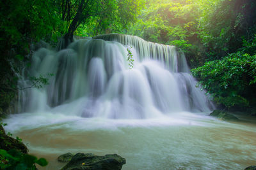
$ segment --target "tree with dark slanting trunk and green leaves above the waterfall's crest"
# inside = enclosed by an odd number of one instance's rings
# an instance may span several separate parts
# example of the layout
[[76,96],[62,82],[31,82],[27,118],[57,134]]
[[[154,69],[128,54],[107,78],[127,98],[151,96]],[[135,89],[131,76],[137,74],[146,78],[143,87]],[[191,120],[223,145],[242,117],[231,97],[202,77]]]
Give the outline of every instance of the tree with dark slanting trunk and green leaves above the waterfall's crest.
[[72,41],[79,25],[93,25],[89,34],[95,36],[109,30],[120,31],[136,20],[143,1],[139,0],[62,0],[62,20],[70,22],[65,34],[67,43]]

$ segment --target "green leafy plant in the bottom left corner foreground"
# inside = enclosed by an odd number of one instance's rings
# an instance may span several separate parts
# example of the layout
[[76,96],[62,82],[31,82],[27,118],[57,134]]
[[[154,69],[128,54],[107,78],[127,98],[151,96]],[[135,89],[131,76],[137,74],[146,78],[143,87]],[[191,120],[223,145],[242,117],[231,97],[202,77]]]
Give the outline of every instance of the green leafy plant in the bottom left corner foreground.
[[44,158],[37,159],[17,150],[0,150],[0,169],[34,170],[35,164],[47,166],[48,162]]

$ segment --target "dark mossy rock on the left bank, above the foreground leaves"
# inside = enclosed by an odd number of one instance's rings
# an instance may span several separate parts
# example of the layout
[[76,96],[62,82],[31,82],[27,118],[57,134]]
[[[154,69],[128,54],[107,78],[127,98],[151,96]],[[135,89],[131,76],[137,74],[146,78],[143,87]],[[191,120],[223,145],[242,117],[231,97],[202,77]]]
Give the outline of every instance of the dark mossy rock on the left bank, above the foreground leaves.
[[3,150],[19,150],[22,153],[28,153],[28,148],[18,139],[8,136],[2,125],[0,125],[0,149]]

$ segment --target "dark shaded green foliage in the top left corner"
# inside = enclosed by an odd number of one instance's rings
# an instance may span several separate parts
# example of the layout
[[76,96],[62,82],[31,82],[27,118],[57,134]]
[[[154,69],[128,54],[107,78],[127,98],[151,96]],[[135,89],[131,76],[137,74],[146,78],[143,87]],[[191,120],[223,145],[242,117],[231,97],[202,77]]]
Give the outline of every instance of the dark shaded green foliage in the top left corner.
[[1,1],[0,6],[0,32],[4,40],[8,39],[1,47],[22,46],[29,50],[28,39],[47,39],[60,24],[54,1]]

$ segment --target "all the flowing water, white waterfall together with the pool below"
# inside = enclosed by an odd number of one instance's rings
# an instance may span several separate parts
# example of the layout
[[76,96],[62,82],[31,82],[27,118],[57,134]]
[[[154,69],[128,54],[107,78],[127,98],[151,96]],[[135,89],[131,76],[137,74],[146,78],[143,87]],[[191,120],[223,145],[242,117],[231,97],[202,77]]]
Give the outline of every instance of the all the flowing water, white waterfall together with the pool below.
[[175,46],[118,34],[80,39],[35,52],[31,73],[54,76],[21,92],[23,113],[4,122],[50,160],[47,169],[63,166],[56,157],[65,152],[118,153],[124,169],[243,169],[256,159],[256,126],[208,117],[214,106]]

